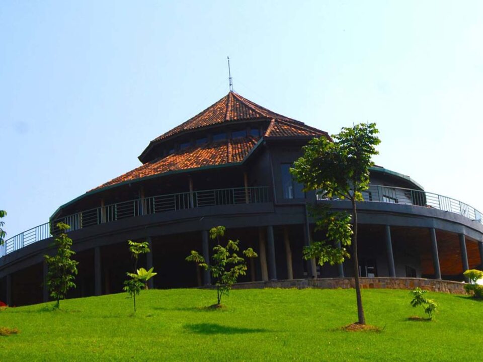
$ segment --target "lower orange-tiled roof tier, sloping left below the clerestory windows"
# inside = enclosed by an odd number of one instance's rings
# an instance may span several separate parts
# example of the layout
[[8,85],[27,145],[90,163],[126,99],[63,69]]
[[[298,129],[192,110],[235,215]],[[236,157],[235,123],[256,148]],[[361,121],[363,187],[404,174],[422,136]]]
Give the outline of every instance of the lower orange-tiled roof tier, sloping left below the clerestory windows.
[[255,138],[246,137],[188,147],[166,157],[144,163],[93,190],[169,171],[241,162],[256,144]]

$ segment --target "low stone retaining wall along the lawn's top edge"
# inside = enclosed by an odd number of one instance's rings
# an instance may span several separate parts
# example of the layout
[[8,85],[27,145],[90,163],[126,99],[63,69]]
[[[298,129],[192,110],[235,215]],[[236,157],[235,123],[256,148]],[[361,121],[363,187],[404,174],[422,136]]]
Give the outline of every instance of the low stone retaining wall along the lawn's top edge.
[[[408,289],[417,287],[433,292],[465,294],[464,283],[423,278],[360,278],[363,289]],[[233,289],[253,288],[354,288],[354,278],[294,279],[237,283]]]

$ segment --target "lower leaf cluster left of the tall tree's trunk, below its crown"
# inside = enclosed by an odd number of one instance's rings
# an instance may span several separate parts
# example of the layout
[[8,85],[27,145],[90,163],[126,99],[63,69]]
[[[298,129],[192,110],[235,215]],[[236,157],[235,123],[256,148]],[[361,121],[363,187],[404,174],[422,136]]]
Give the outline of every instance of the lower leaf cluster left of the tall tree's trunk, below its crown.
[[[314,241],[303,248],[303,258],[308,260],[315,258],[319,265],[329,263],[341,264],[345,258],[350,258],[346,246],[351,245],[352,216],[346,212],[331,212],[329,208],[317,205],[311,209],[311,215],[315,218],[315,231],[326,232],[326,238]],[[340,243],[340,247],[338,244]]]

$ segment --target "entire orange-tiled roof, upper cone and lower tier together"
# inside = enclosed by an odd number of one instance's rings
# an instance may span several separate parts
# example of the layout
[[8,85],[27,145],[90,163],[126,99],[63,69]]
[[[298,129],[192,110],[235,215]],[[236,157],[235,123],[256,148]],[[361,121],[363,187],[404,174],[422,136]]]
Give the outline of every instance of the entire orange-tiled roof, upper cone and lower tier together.
[[[176,141],[172,140],[172,138],[181,139],[185,133],[211,128],[216,125],[222,127],[222,124],[234,121],[240,121],[241,123],[244,123],[243,121],[250,123],[253,121],[263,122],[260,123],[255,136],[251,135],[247,130],[247,134],[236,138],[234,136],[221,140],[206,138],[206,142],[199,144],[191,140],[188,144],[185,143],[186,147],[172,147],[172,145],[167,147],[163,145],[172,144]],[[285,139],[320,136],[329,137],[327,132],[279,115],[234,92],[230,92],[195,117],[152,140],[141,156],[139,156],[143,165],[110,180],[94,190],[173,171],[241,164],[247,160],[252,151],[260,144],[262,137],[263,139]],[[163,149],[163,152],[159,152],[160,149]],[[168,149],[170,150],[168,151]]]

